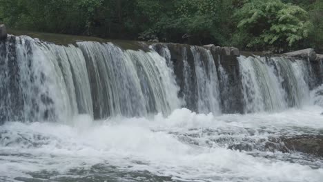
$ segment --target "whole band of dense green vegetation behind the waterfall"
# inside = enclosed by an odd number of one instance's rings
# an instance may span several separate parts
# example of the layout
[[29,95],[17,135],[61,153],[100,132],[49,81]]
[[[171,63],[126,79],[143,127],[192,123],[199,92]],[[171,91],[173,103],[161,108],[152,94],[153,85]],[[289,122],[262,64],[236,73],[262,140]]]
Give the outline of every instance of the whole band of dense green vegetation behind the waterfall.
[[14,29],[110,39],[323,50],[323,0],[0,0]]

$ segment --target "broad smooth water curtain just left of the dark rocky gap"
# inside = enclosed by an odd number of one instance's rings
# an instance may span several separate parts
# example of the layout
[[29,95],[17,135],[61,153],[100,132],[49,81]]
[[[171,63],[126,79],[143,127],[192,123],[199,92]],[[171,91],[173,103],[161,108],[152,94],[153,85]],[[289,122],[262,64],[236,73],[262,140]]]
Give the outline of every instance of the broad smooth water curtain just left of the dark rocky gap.
[[179,107],[172,70],[156,52],[121,50],[112,43],[77,43],[90,72],[95,118],[170,114]]

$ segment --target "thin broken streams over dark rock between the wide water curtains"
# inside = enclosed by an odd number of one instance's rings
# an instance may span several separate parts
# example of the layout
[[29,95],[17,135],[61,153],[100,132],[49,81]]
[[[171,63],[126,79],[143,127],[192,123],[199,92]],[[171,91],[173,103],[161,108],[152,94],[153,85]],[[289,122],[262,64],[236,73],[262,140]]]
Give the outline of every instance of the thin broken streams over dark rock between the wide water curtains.
[[[151,47],[166,57],[168,62],[172,59],[167,45],[161,45],[160,48],[158,45]],[[184,107],[205,114],[221,113],[219,79],[211,51],[191,46],[183,47],[177,53],[180,54],[180,60],[175,63],[175,68],[173,63],[168,65],[175,70],[177,84],[181,88],[179,97],[184,100]]]

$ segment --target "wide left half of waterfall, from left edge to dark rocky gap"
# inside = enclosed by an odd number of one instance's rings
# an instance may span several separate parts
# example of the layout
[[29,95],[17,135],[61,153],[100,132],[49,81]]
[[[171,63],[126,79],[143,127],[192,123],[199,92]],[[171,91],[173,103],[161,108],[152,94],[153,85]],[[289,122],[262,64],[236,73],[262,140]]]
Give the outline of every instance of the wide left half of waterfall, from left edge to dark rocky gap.
[[0,121],[170,114],[181,104],[173,70],[153,50],[97,42],[63,46],[13,36],[0,50]]

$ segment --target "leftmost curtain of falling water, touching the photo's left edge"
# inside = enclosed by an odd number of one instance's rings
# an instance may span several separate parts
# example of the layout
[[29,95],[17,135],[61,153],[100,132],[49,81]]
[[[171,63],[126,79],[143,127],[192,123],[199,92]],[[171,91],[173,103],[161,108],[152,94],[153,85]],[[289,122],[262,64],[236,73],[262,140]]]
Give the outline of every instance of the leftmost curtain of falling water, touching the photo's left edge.
[[77,113],[66,54],[75,48],[30,37],[9,37],[0,46],[1,121],[63,120]]

